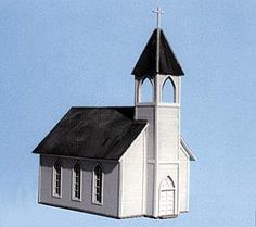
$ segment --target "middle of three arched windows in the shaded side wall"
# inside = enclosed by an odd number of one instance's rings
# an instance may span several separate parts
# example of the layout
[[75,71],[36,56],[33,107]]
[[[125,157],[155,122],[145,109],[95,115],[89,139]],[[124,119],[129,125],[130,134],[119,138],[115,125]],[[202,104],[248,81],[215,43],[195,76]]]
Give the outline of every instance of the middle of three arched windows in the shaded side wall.
[[81,167],[80,163],[77,162],[74,165],[73,172],[73,199],[80,200],[81,199]]

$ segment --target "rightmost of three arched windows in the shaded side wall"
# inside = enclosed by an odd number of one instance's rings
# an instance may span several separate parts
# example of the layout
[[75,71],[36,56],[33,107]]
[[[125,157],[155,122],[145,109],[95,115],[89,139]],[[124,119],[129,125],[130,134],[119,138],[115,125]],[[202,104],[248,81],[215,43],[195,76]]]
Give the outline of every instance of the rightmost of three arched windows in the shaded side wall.
[[103,190],[103,172],[102,167],[98,164],[93,171],[93,198],[94,203],[102,203]]

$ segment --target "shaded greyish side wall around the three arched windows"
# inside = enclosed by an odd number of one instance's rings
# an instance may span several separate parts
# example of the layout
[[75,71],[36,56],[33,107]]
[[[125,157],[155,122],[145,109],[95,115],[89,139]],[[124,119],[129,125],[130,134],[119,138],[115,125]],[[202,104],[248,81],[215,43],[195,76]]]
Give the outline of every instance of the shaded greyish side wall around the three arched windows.
[[40,156],[39,203],[117,217],[119,192],[117,162],[100,162],[104,171],[103,204],[97,205],[92,203],[92,169],[98,162],[95,160],[80,160],[82,192],[81,201],[78,202],[72,200],[72,169],[76,162],[75,159],[61,159],[62,198],[52,196],[52,166],[56,159],[56,156]]

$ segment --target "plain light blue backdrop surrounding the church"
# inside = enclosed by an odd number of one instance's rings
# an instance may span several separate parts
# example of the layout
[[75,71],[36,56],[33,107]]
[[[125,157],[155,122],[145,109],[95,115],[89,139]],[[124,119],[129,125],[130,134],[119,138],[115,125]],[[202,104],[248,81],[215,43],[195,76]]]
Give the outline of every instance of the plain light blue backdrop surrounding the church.
[[[155,27],[180,61],[190,213],[116,220],[37,204],[30,152],[74,105],[132,105]],[[249,227],[256,211],[256,1],[0,1],[0,227]]]

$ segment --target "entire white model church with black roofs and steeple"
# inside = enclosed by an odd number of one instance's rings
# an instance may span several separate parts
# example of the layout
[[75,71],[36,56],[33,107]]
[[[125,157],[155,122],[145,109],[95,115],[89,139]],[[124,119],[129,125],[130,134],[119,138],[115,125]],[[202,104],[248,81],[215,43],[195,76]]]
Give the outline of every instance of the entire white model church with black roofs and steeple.
[[[39,203],[115,218],[189,211],[195,156],[180,135],[183,71],[159,26],[132,75],[135,106],[71,108],[33,151],[40,156]],[[152,98],[144,101],[146,84]]]

